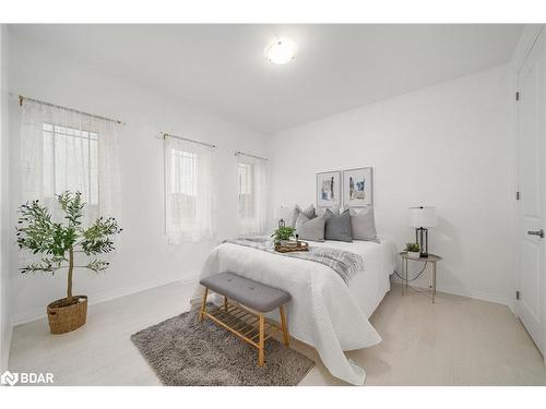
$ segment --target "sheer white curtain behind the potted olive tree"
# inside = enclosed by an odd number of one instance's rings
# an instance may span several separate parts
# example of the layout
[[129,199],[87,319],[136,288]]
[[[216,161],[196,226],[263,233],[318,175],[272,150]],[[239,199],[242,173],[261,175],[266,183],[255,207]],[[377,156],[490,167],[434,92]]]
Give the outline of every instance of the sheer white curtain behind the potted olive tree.
[[23,100],[21,117],[23,201],[79,191],[86,221],[119,216],[118,124],[70,109]]

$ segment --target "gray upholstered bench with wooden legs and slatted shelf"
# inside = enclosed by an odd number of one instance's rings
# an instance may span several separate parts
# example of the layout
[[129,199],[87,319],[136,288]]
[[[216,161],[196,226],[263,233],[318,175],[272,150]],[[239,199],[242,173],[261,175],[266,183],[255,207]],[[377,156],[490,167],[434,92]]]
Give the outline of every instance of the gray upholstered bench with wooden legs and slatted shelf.
[[[284,304],[290,300],[286,291],[253,281],[233,273],[221,273],[203,278],[200,284],[205,288],[199,321],[205,317],[230,330],[245,341],[258,348],[258,364],[264,363],[264,342],[271,337],[270,329],[283,333],[284,345],[289,345],[288,327]],[[206,310],[206,297],[212,290],[224,297],[222,308]],[[229,302],[236,301],[237,304]],[[265,318],[264,313],[278,308],[281,326]]]

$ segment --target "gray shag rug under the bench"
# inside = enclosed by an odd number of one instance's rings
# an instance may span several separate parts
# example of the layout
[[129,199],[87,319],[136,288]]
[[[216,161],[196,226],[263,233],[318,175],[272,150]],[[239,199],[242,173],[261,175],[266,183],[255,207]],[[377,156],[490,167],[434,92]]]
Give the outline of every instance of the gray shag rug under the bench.
[[142,329],[131,340],[159,380],[170,386],[293,386],[314,362],[276,339],[265,341],[265,364],[258,349],[193,310]]

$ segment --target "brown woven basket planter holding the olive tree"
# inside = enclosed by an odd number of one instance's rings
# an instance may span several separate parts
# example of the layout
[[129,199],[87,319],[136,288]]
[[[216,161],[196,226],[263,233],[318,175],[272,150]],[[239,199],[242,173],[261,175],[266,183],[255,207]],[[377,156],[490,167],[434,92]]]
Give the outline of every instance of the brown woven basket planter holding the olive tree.
[[47,317],[51,334],[64,334],[80,328],[87,318],[87,296],[74,296],[74,302],[67,304],[67,299],[47,305]]

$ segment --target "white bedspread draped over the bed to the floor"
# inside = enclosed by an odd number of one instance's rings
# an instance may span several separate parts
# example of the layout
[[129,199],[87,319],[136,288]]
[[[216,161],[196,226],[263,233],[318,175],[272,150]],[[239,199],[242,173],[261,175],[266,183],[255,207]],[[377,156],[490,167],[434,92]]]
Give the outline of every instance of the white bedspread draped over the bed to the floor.
[[[381,341],[368,318],[389,290],[396,248],[389,240],[381,240],[381,244],[325,241],[310,245],[335,246],[361,254],[365,268],[347,287],[323,264],[224,243],[209,255],[201,278],[232,272],[289,292],[292,301],[286,305],[286,313],[290,335],[313,346],[332,375],[363,385],[366,372],[347,360],[343,351]],[[202,296],[201,288],[198,287],[195,296]],[[276,311],[271,313],[273,320],[278,320],[277,315]]]

